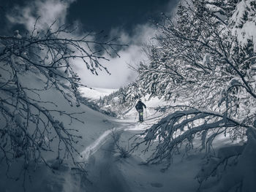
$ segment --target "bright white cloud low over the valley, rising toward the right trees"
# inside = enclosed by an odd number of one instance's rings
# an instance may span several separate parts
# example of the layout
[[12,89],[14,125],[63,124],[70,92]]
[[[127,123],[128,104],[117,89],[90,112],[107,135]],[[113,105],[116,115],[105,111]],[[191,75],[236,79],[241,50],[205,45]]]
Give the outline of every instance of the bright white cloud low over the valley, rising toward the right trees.
[[[132,35],[127,34],[120,28],[113,28],[110,31],[110,37],[119,37],[120,44],[126,44],[128,47],[118,51],[118,56],[110,58],[110,61],[102,61],[101,64],[108,68],[107,72],[99,72],[98,76],[85,70],[86,66],[78,62],[78,74],[83,84],[98,88],[120,88],[132,82],[138,76],[135,71],[130,69],[127,64],[136,66],[140,61],[146,61],[146,54],[143,52],[143,46],[146,43],[152,43],[154,39],[155,28],[149,24],[138,25],[133,29]],[[109,58],[108,55],[104,55]]]

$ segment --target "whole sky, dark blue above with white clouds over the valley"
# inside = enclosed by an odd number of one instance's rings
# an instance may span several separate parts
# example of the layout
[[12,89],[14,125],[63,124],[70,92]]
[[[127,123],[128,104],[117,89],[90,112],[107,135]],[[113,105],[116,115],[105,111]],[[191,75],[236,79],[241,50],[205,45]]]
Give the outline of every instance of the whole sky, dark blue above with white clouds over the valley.
[[102,64],[111,75],[100,72],[94,76],[78,64],[78,74],[84,84],[100,88],[120,88],[135,80],[137,74],[127,67],[146,60],[141,50],[143,44],[154,37],[151,20],[158,20],[161,12],[171,13],[178,0],[1,0],[0,34],[10,34],[15,29],[20,34],[31,30],[40,16],[39,27],[49,23],[75,23],[79,31],[102,31],[110,37],[120,37],[129,46],[119,50],[121,58],[110,58]]

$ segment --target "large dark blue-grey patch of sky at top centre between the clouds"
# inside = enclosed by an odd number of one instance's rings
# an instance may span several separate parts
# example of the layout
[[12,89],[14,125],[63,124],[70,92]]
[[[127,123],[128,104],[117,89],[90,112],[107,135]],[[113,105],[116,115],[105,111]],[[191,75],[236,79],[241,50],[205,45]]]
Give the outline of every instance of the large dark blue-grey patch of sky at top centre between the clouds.
[[138,24],[157,19],[160,12],[176,6],[177,0],[87,0],[75,1],[69,7],[67,20],[80,20],[92,31],[122,28],[131,32]]

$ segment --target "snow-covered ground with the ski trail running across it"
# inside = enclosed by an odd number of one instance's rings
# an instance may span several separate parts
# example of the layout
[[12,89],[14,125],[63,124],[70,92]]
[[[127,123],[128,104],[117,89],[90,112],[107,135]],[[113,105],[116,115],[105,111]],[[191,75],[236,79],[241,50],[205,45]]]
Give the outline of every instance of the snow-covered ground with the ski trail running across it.
[[[49,93],[48,93],[49,94]],[[53,96],[54,91],[48,96]],[[100,93],[99,93],[100,94]],[[56,102],[58,99],[56,99]],[[60,102],[60,101],[59,101]],[[204,153],[195,153],[188,156],[176,155],[170,169],[162,172],[162,165],[146,166],[144,163],[150,153],[141,153],[143,146],[135,150],[129,158],[120,158],[113,142],[113,132],[118,135],[118,143],[122,147],[129,150],[129,138],[134,134],[140,134],[143,130],[151,126],[159,119],[160,113],[154,111],[154,107],[163,106],[166,103],[159,99],[153,98],[150,101],[143,99],[147,106],[145,114],[145,122],[137,123],[138,115],[135,108],[130,109],[123,120],[109,118],[105,115],[89,109],[83,104],[74,108],[74,110],[85,111],[80,118],[86,121],[83,123],[72,123],[72,126],[78,128],[83,140],[80,141],[78,149],[82,157],[78,157],[81,161],[86,161],[88,178],[80,177],[72,171],[69,162],[54,173],[44,165],[39,166],[36,172],[31,172],[31,181],[26,182],[26,191],[89,191],[89,192],[191,192],[197,191],[199,184],[195,177],[200,173],[202,166],[202,158]],[[73,108],[71,108],[73,110]],[[64,110],[69,111],[70,108]],[[64,119],[63,119],[64,120]],[[65,121],[65,120],[64,120]],[[253,140],[254,141],[254,140]],[[200,145],[199,142],[197,145]],[[230,145],[226,137],[219,137],[216,140],[217,147]],[[254,144],[252,144],[253,146]],[[229,147],[227,147],[228,149]],[[227,155],[225,149],[219,150],[219,156]],[[249,155],[256,156],[252,148],[247,148]],[[182,153],[181,153],[182,154]],[[49,163],[54,164],[52,158],[49,157]],[[255,162],[255,159],[253,160]],[[244,173],[249,171],[252,178],[255,178],[255,166],[252,159],[244,158],[240,166],[231,172],[239,173],[241,169]],[[245,169],[244,169],[245,168]],[[4,167],[1,166],[0,172],[0,191],[12,192],[22,191],[21,181],[7,180],[4,173]],[[15,168],[12,170],[15,172]],[[248,177],[248,174],[245,174]],[[222,177],[228,185],[233,182],[230,173]],[[239,179],[239,178],[238,178]],[[248,180],[247,180],[248,181]],[[13,185],[15,183],[15,185]],[[186,185],[184,185],[186,183]],[[206,185],[202,188],[205,191],[214,191],[214,183]],[[218,190],[225,191],[226,186],[217,185]],[[211,190],[212,189],[212,190]]]

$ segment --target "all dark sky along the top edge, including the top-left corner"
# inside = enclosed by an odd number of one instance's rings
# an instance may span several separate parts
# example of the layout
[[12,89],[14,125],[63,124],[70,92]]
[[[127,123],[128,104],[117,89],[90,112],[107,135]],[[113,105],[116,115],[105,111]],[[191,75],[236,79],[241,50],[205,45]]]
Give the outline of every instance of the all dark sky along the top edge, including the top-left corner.
[[[7,20],[5,15],[17,13],[17,7],[36,4],[38,0],[1,0],[0,4],[0,28],[1,31],[7,31]],[[49,0],[40,0],[42,4]],[[130,33],[132,28],[138,24],[147,23],[148,20],[157,20],[160,12],[167,12],[176,6],[178,0],[51,0],[53,4],[69,4],[67,15],[63,15],[67,23],[79,21],[84,31],[101,31],[104,29],[107,33],[112,28],[122,28]],[[32,6],[33,7],[33,6]],[[53,6],[54,7],[54,6]],[[34,11],[34,10],[33,10]],[[39,12],[41,15],[49,12]],[[20,26],[18,26],[20,27]],[[10,26],[9,28],[10,29]]]

